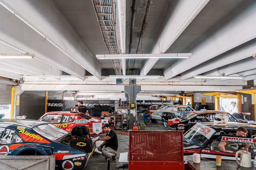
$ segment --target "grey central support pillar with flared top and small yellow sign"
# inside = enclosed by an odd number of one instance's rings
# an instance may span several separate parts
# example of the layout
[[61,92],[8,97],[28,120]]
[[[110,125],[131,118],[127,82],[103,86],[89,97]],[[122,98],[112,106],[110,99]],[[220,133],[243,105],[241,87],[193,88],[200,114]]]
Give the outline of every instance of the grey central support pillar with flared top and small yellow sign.
[[[129,96],[129,129],[132,129],[133,122],[137,120],[137,113],[136,113],[136,95],[141,91],[141,86],[136,85],[129,85],[124,86],[124,91]],[[135,111],[135,116],[131,113],[131,110]]]

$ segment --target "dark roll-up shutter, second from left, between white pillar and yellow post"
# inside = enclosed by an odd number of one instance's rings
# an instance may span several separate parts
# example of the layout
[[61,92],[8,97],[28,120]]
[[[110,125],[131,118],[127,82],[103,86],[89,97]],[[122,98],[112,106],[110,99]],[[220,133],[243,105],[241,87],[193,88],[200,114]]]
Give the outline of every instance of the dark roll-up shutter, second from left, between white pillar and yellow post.
[[20,95],[19,115],[38,120],[45,113],[45,91],[24,91]]

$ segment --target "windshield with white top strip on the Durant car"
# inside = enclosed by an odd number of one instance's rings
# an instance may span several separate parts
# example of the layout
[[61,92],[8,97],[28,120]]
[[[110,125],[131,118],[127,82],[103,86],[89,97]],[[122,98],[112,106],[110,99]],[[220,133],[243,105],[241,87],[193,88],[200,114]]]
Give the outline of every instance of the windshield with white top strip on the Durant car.
[[215,132],[210,127],[196,124],[184,134],[183,138],[193,145],[203,147]]

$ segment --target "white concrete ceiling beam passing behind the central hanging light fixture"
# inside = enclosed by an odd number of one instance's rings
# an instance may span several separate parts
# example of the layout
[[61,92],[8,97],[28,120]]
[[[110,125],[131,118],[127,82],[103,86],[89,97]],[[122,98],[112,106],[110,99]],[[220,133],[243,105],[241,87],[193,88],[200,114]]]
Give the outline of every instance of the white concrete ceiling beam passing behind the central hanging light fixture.
[[[151,54],[165,53],[208,2],[209,0],[177,1],[177,5],[166,21]],[[141,69],[140,75],[147,75],[157,61],[158,59],[148,59]]]

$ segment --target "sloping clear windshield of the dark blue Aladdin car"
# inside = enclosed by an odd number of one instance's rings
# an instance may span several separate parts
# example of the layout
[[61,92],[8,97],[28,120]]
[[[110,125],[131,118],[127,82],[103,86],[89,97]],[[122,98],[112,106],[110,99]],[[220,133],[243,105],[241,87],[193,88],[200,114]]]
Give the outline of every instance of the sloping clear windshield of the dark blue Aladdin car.
[[69,134],[68,131],[63,130],[53,124],[48,124],[48,123],[35,126],[35,127],[33,127],[33,129],[40,135],[42,135],[50,140],[56,140],[66,134]]

